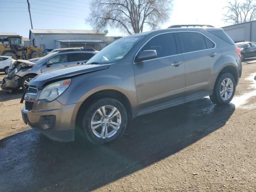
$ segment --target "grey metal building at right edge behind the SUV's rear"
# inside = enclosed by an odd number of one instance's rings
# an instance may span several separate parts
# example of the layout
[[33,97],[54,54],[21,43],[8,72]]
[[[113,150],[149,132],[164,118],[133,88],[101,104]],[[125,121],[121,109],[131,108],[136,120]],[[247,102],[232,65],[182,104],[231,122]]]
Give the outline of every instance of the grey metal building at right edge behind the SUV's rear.
[[256,42],[256,21],[222,27],[234,42]]

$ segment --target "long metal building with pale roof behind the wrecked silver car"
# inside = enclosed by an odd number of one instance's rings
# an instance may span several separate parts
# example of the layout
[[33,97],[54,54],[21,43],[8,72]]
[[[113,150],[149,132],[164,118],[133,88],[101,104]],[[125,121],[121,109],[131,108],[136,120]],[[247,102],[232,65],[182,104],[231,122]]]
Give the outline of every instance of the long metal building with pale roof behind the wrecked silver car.
[[53,30],[30,29],[29,39],[32,46],[44,49],[84,47],[101,50],[106,46],[105,33],[96,30]]

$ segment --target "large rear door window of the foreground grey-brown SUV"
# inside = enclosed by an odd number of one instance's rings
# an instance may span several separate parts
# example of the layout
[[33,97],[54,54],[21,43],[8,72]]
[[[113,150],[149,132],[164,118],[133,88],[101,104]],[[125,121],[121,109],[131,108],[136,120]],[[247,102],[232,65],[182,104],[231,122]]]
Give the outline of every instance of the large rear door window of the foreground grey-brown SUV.
[[202,34],[196,32],[180,32],[178,34],[184,53],[207,49],[206,41]]

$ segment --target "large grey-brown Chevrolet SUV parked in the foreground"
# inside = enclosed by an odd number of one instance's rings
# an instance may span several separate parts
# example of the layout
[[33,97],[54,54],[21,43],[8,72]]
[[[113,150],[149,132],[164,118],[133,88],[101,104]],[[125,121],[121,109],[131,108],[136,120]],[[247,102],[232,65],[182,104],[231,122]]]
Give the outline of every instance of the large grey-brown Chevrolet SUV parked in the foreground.
[[85,65],[43,73],[22,101],[24,122],[52,140],[95,144],[122,136],[128,120],[205,96],[228,104],[241,77],[239,48],[221,29],[143,32],[116,40]]

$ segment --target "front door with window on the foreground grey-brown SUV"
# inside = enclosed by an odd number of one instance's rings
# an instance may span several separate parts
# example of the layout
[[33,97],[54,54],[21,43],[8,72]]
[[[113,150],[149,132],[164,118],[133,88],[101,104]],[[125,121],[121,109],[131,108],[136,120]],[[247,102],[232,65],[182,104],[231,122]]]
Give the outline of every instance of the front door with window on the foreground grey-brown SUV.
[[185,66],[173,33],[160,34],[140,50],[156,50],[157,58],[134,63],[138,110],[181,99],[185,94]]

